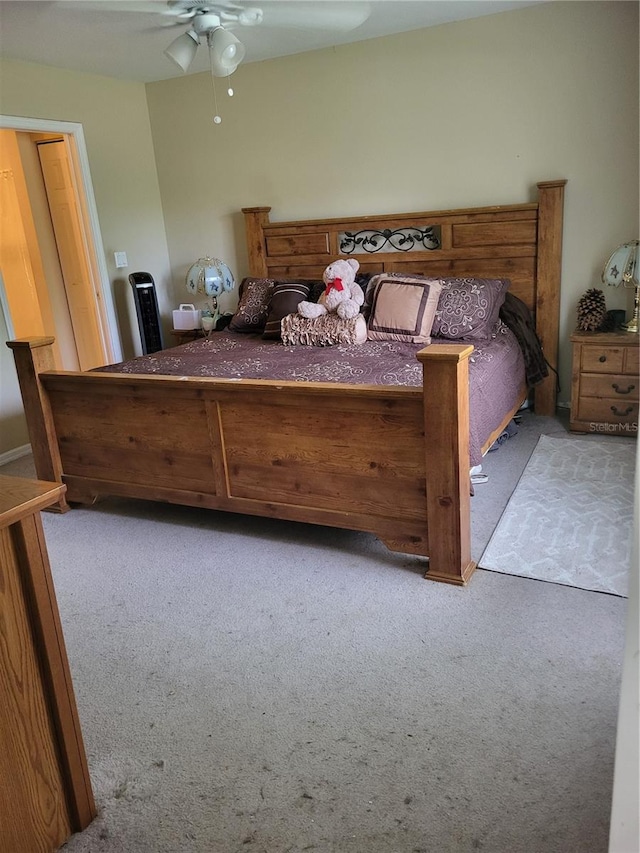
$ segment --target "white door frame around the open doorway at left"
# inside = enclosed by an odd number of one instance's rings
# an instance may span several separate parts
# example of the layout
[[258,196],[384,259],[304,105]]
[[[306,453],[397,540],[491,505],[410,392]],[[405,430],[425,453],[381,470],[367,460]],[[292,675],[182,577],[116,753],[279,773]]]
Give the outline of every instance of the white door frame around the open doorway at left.
[[108,350],[105,355],[107,363],[121,361],[122,346],[118,335],[115,304],[109,285],[109,271],[105,260],[82,125],[77,122],[0,115],[0,129],[26,133],[60,133],[65,138],[70,137],[73,140],[73,144],[69,146],[71,165],[79,187],[80,216],[87,235],[85,251],[94,277],[94,292],[99,294],[99,298],[95,297],[95,303],[103,327],[103,344]]

